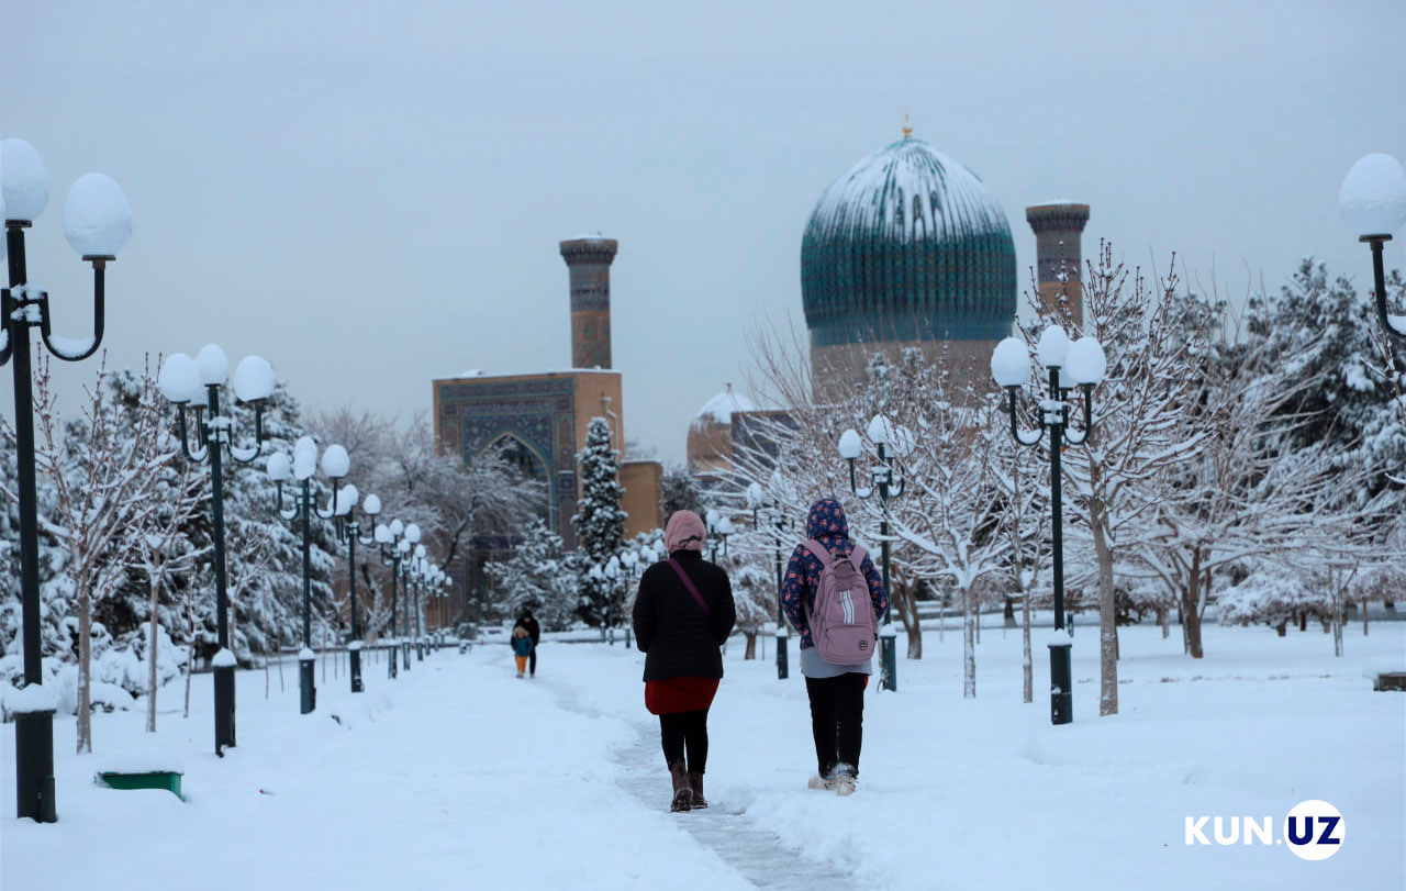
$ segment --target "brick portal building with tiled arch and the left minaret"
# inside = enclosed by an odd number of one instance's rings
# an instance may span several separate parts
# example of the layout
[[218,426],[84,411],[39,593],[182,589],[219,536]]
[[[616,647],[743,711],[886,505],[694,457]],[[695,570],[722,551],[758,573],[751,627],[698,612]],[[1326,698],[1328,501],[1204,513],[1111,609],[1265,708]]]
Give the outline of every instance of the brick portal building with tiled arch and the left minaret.
[[[439,378],[433,382],[433,412],[443,451],[472,462],[501,448],[527,478],[546,483],[543,520],[569,549],[576,547],[571,517],[581,499],[576,455],[585,447],[586,427],[592,417],[605,417],[612,443],[623,453],[624,399],[621,375],[610,368],[610,264],[619,242],[585,235],[561,242],[560,250],[569,271],[571,368]],[[621,461],[627,537],[664,526],[662,479],[658,461]],[[486,586],[484,564],[506,559],[516,541],[516,530],[477,535],[467,566],[456,568],[456,590]]]

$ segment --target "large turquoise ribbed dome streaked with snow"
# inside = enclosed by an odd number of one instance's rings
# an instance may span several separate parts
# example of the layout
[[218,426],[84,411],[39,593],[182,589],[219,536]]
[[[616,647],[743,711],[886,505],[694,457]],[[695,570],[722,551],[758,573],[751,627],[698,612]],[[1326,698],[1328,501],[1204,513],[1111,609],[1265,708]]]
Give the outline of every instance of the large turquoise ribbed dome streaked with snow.
[[800,268],[813,346],[1011,333],[1005,211],[921,139],[900,139],[830,184],[806,225]]

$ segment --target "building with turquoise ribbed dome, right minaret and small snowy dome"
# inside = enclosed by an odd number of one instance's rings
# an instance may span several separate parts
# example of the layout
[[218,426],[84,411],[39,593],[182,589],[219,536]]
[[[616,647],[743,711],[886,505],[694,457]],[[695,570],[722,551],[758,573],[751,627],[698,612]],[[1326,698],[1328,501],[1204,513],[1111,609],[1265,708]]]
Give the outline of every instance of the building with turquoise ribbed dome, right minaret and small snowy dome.
[[[1067,301],[1081,319],[1088,205],[1046,201],[1025,216],[1040,304]],[[952,392],[984,392],[991,351],[1011,333],[1018,305],[1005,209],[980,177],[907,126],[821,193],[801,233],[800,282],[818,402],[862,385],[875,353],[897,361],[907,347],[946,368]],[[709,406],[724,396],[731,388]],[[688,455],[696,474],[717,475],[754,412],[709,406],[689,429]]]

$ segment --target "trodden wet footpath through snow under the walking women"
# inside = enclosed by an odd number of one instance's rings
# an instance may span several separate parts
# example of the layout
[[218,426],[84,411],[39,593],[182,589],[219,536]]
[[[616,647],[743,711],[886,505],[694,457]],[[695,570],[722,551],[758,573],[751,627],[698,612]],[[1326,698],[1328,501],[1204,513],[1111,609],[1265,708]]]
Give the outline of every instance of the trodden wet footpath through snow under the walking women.
[[[568,711],[602,718],[599,711],[578,703],[574,691],[550,683],[560,705]],[[664,814],[686,831],[699,845],[716,853],[741,878],[756,888],[778,891],[846,891],[852,877],[831,863],[801,856],[787,847],[779,835],[747,815],[745,807],[725,795],[709,793],[709,807],[688,814],[669,812],[669,777],[659,752],[659,729],[651,722],[636,722],[634,738],[614,750],[621,767],[620,787],[641,807]],[[815,793],[823,795],[825,793]]]

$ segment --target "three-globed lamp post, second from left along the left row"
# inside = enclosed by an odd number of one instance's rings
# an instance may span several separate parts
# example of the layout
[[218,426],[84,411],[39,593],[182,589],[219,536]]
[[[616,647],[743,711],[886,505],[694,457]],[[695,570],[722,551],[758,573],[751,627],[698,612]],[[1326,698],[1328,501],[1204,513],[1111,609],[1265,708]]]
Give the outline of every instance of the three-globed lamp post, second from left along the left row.
[[[232,419],[219,413],[219,389],[229,381],[239,402],[254,405],[254,444],[250,448],[235,446]],[[219,651],[212,661],[215,675],[215,755],[224,757],[224,749],[235,745],[235,653],[229,648],[229,590],[225,571],[225,472],[224,458],[249,464],[263,448],[263,408],[273,395],[277,381],[273,368],[257,356],[246,356],[235,375],[229,377],[229,360],[225,351],[209,343],[201,347],[195,358],[184,353],[173,353],[162,363],[157,378],[162,394],[176,406],[176,420],[180,429],[180,447],[187,461],[209,464],[209,513],[214,524],[215,545],[215,638]],[[202,395],[205,405],[197,401]],[[186,406],[193,405],[198,429],[195,448],[191,448],[186,423]],[[208,412],[208,417],[205,417]]]

